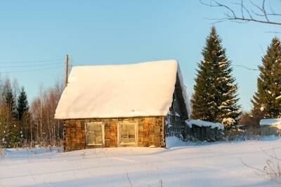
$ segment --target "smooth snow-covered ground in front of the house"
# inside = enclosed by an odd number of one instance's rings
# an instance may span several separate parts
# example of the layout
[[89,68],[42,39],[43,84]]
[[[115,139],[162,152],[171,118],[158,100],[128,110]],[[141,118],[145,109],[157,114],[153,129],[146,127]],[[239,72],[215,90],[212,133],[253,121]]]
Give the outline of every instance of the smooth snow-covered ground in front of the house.
[[[5,150],[0,186],[280,186],[242,161],[263,169],[264,153],[281,157],[281,139],[170,148],[96,148],[68,153]],[[175,146],[180,145],[180,146]],[[242,160],[242,161],[241,161]]]

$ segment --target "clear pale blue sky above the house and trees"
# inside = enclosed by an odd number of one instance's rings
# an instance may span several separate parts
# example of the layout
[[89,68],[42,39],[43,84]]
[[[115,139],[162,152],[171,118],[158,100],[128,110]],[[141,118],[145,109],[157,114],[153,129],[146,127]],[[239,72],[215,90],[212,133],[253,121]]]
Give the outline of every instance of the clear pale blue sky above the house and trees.
[[[48,88],[63,81],[66,53],[73,65],[176,59],[191,94],[213,22],[206,18],[222,16],[221,9],[204,6],[199,0],[2,1],[1,77],[17,78],[31,101],[40,84]],[[275,36],[268,32],[280,31],[276,26],[236,22],[221,22],[216,28],[233,64],[251,68],[261,64]],[[30,63],[41,60],[51,61]],[[250,109],[259,71],[233,68],[242,109]]]

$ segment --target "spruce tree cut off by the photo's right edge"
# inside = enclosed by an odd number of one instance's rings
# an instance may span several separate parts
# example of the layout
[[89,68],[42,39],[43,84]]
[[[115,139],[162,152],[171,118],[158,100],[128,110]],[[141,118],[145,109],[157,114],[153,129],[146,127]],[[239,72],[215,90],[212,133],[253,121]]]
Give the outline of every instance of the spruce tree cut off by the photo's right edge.
[[258,88],[251,102],[253,111],[262,111],[261,118],[281,116],[281,42],[273,38],[259,66]]

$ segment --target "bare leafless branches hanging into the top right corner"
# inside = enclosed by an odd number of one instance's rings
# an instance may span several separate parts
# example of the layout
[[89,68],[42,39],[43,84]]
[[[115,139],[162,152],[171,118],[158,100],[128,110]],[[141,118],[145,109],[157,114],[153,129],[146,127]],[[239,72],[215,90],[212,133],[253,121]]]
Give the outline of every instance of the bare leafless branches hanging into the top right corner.
[[[221,3],[217,0],[200,0],[202,4],[214,8],[221,8],[224,11],[224,17],[213,18],[216,22],[226,20],[235,22],[259,22],[270,25],[281,25],[281,8],[273,8],[272,3],[278,4],[281,7],[280,0],[259,0],[259,1],[235,1],[226,4],[226,1]],[[274,2],[273,2],[274,1]],[[270,4],[271,3],[271,4]],[[276,6],[275,6],[276,7]],[[275,9],[277,9],[276,12]]]

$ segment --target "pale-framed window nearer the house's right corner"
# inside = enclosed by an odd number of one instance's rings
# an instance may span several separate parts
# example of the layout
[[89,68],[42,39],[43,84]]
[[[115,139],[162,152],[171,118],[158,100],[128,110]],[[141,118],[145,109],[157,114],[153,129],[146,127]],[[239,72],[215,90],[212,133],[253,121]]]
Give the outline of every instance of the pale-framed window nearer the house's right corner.
[[120,144],[136,144],[136,123],[120,123]]

